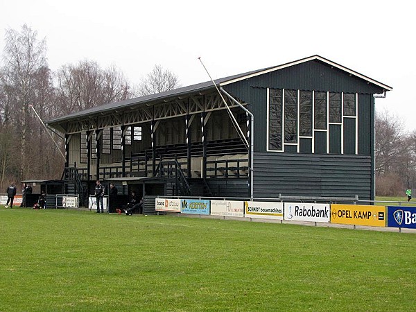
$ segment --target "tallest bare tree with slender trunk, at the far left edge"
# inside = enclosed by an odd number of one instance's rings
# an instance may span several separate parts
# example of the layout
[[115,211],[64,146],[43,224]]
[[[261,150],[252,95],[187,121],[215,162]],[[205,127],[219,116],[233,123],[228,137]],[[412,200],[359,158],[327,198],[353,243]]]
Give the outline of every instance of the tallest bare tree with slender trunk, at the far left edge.
[[33,103],[39,89],[36,79],[40,71],[48,67],[46,42],[37,40],[37,32],[26,24],[17,32],[6,30],[6,44],[3,51],[1,87],[6,100],[3,101],[3,120],[8,126],[14,125],[19,134],[20,172],[23,179],[28,170],[26,159],[27,135],[30,127],[29,105]]

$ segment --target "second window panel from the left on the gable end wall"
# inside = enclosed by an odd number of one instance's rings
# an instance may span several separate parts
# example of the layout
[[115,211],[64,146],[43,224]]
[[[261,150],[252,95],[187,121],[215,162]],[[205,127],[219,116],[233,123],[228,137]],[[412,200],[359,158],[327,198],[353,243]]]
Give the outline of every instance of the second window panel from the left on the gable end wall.
[[284,143],[297,143],[297,90],[284,90]]

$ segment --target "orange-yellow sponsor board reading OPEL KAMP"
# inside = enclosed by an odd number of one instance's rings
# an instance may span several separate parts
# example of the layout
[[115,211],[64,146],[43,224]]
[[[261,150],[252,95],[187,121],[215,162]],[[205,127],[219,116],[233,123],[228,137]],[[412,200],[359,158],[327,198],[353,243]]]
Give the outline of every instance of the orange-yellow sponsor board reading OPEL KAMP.
[[385,207],[332,204],[331,223],[385,227]]

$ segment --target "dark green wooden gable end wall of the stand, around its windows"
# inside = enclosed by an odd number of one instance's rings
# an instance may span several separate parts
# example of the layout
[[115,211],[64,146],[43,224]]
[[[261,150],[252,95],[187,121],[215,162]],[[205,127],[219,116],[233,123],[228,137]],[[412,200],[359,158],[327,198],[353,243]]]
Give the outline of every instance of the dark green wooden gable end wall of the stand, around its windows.
[[[315,153],[311,142],[285,146],[284,153],[266,152],[267,88],[322,92],[358,93],[358,121],[345,118],[329,125],[328,132],[315,131]],[[381,87],[318,60],[305,62],[261,76],[225,85],[224,89],[243,101],[254,114],[254,196],[342,196],[370,200],[374,196],[372,157],[374,134],[373,94]],[[343,131],[343,132],[342,132]],[[358,131],[356,136],[356,131]],[[341,134],[343,133],[343,142]],[[327,151],[329,136],[329,154]],[[358,137],[358,155],[355,154]],[[343,143],[344,155],[341,155]]]

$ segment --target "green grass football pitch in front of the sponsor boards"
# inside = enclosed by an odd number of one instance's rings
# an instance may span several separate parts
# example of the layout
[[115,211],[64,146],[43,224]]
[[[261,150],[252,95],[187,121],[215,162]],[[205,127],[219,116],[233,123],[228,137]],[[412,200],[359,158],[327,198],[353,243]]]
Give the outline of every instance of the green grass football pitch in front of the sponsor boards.
[[414,311],[415,234],[0,207],[0,311]]

